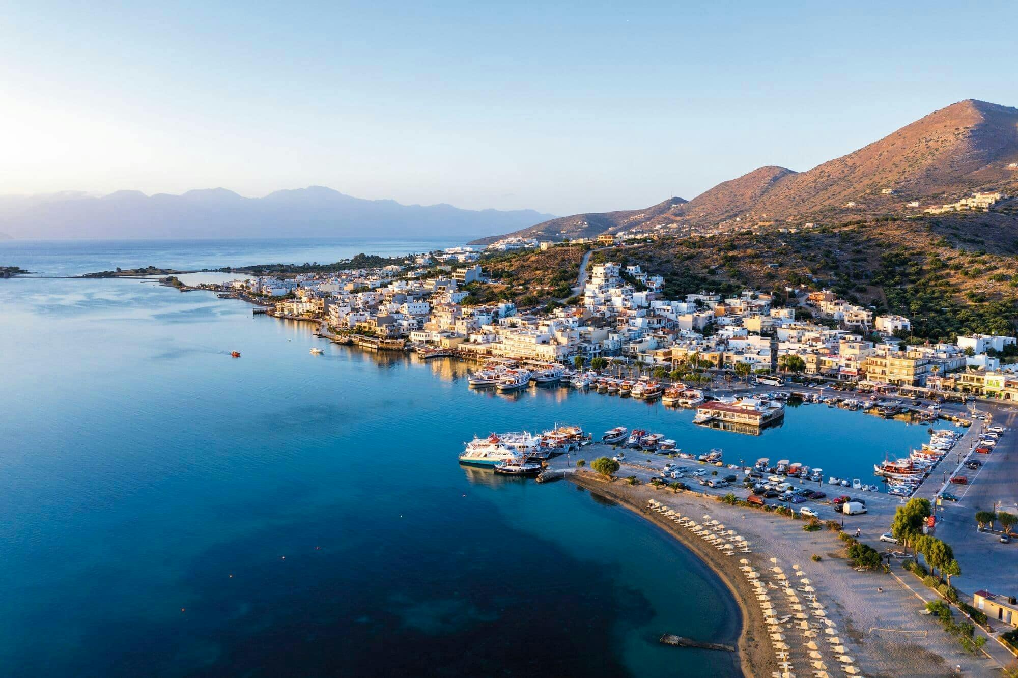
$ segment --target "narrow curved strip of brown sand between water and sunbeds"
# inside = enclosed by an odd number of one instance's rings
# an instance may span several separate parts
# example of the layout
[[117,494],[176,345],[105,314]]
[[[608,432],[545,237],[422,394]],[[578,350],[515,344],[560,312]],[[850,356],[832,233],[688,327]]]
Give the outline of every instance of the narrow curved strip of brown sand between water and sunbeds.
[[[690,539],[688,532],[679,529],[675,522],[665,520],[660,514],[653,513],[640,507],[638,502],[631,496],[635,493],[628,491],[630,486],[622,485],[621,481],[606,483],[600,479],[595,473],[582,470],[567,473],[566,477],[588,492],[610,499],[649,521],[690,551],[725,584],[731,592],[736,607],[739,609],[741,628],[739,629],[736,647],[738,651],[738,665],[742,675],[747,677],[767,675],[768,672],[779,670],[778,663],[774,659],[774,654],[765,642],[767,640],[767,624],[765,623],[764,614],[759,608],[746,605],[747,597],[752,596],[753,592],[745,582],[745,578],[739,576],[737,560],[719,557],[718,550],[708,549],[702,540]],[[702,639],[714,640],[714,638]]]

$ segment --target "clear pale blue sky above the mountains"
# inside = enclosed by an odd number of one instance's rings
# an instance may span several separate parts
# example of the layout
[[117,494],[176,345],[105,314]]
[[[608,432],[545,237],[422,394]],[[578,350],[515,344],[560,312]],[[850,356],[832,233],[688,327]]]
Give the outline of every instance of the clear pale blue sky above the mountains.
[[1012,2],[0,0],[0,15],[3,194],[327,185],[637,209],[809,169],[962,99],[1018,105]]

